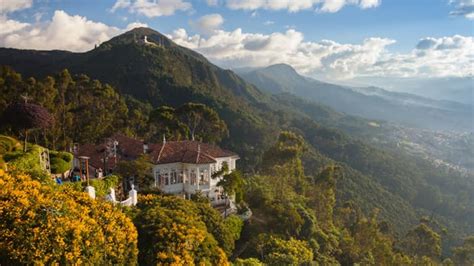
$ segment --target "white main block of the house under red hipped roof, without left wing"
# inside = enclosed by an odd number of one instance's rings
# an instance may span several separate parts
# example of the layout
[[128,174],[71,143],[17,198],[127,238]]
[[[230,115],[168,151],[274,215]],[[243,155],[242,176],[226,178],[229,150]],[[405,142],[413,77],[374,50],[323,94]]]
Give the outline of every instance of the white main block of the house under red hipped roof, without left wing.
[[229,171],[235,170],[237,154],[198,141],[164,141],[152,146],[156,187],[186,198],[200,191],[213,204],[223,201],[223,190],[217,186],[222,175],[213,175],[224,165]]

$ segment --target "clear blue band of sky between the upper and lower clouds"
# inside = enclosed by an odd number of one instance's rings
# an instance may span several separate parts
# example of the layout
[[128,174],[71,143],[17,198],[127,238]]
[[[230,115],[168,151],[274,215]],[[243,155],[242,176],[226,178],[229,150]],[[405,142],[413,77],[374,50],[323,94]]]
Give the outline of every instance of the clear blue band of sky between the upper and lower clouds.
[[[10,1],[10,0],[6,0]],[[13,1],[13,0],[11,0]],[[474,21],[462,16],[452,16],[456,8],[449,0],[383,0],[376,8],[360,9],[354,5],[345,6],[335,13],[315,12],[314,9],[300,12],[287,10],[231,10],[224,5],[209,6],[206,1],[190,1],[192,11],[177,11],[171,16],[149,18],[139,13],[130,13],[125,9],[110,12],[115,0],[51,0],[38,1],[31,9],[21,10],[12,18],[34,22],[34,14],[44,13],[47,19],[55,10],[64,10],[68,14],[85,16],[119,28],[130,22],[139,21],[164,33],[176,28],[188,28],[189,20],[202,15],[219,13],[224,19],[223,28],[233,30],[242,28],[246,32],[271,33],[285,31],[294,27],[309,41],[329,39],[342,43],[359,43],[363,39],[378,36],[397,40],[391,49],[408,51],[424,37],[442,37],[449,35],[472,36]],[[125,20],[126,18],[126,20]],[[265,23],[273,22],[271,25]]]

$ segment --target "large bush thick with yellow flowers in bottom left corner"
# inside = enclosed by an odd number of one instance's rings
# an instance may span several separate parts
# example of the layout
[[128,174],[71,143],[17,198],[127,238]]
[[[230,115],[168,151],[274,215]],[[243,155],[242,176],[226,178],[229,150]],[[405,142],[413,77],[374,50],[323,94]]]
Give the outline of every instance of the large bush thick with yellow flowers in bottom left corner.
[[136,264],[137,232],[117,207],[0,170],[0,264]]

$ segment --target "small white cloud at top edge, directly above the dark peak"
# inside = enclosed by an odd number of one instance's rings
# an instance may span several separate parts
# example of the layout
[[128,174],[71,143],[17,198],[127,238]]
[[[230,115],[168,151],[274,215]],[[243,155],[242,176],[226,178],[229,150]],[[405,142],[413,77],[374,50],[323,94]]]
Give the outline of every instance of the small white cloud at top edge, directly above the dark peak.
[[176,11],[190,10],[192,4],[183,0],[117,0],[111,11],[115,12],[117,9],[125,8],[132,13],[153,18],[171,16]]

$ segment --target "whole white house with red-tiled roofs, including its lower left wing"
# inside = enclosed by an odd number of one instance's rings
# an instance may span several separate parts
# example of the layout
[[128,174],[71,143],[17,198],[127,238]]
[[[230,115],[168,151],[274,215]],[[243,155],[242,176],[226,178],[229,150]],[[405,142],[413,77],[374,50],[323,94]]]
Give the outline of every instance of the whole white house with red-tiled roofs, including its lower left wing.
[[[112,143],[112,144],[110,144]],[[110,150],[110,151],[109,151]],[[105,169],[113,173],[122,160],[135,160],[148,154],[153,164],[154,185],[165,193],[189,198],[200,191],[209,197],[214,205],[223,203],[223,189],[217,186],[222,176],[213,174],[227,164],[229,171],[235,170],[239,156],[216,145],[199,141],[163,141],[147,144],[144,141],[116,134],[100,145],[85,144],[76,148],[76,158],[89,157],[89,171]],[[134,177],[124,180],[124,187],[130,187]],[[138,188],[140,190],[140,188]]]

